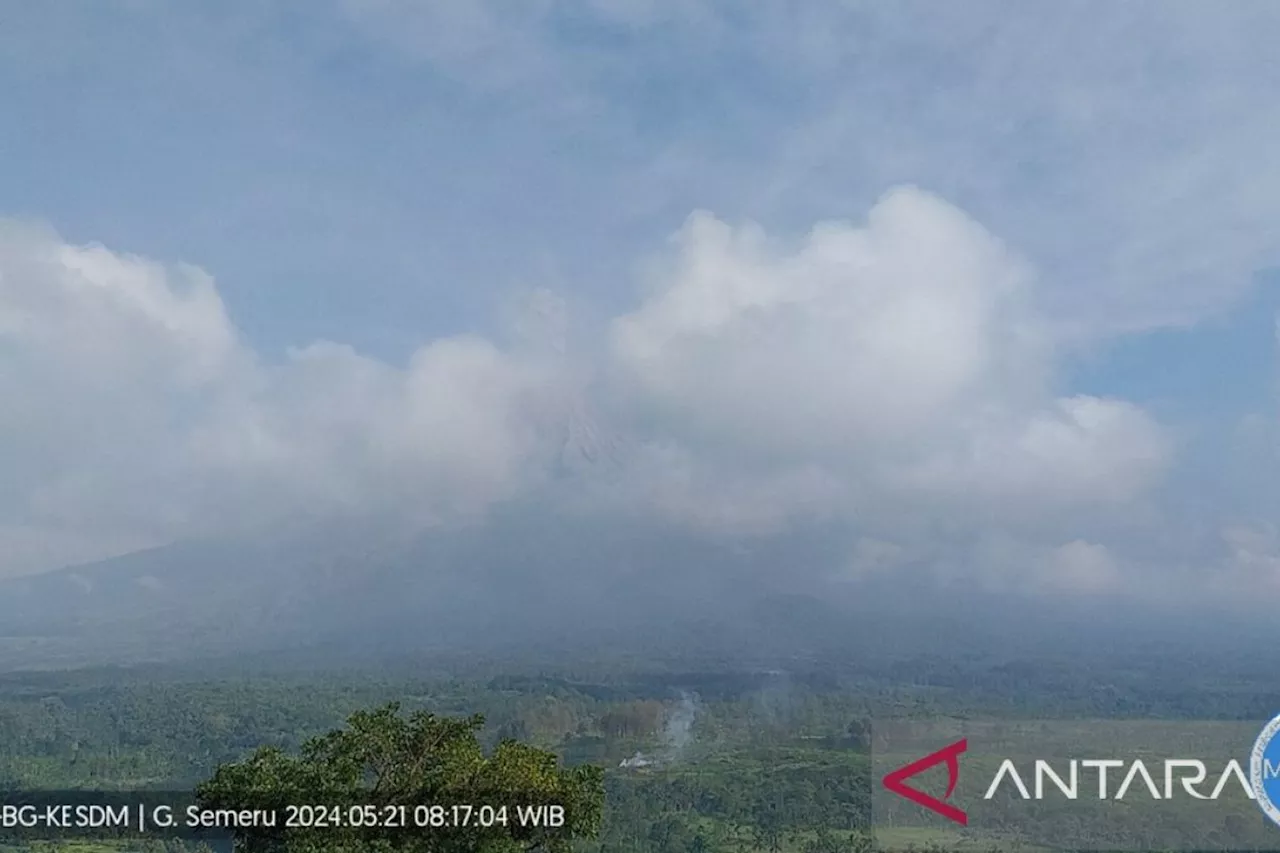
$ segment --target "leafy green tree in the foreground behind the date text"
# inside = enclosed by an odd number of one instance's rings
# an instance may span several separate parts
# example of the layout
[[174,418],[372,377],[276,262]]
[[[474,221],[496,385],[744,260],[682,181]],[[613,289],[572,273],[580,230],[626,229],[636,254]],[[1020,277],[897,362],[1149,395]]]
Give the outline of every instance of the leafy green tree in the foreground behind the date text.
[[[516,740],[485,756],[483,726],[480,716],[406,719],[396,703],[357,712],[297,757],[264,747],[220,766],[197,788],[197,803],[274,816],[275,826],[237,833],[236,849],[246,853],[567,853],[599,833],[599,767],[566,768]],[[554,806],[563,825],[547,826],[545,807]],[[285,826],[291,815],[308,825]]]

